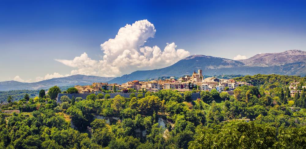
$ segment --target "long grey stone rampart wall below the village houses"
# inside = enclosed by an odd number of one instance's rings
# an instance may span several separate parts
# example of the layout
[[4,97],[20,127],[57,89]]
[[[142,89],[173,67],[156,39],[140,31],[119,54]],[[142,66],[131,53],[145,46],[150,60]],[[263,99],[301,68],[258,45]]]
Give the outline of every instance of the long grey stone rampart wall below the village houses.
[[[60,99],[64,95],[68,96],[70,99],[72,99],[72,97],[74,97],[74,98],[81,97],[82,99],[86,99],[86,97],[90,94],[91,93],[86,93],[86,94],[58,94],[57,102],[60,103],[61,102]],[[120,96],[125,97],[125,98],[130,98],[130,94],[132,94],[132,93],[102,93],[102,94],[103,95],[109,94],[110,98],[114,98],[117,95],[120,95]],[[135,94],[136,94],[136,97],[137,97],[138,94],[143,94],[143,97],[144,97],[145,93],[135,93]],[[98,95],[98,94],[96,94],[96,95]],[[181,93],[181,95],[184,96],[183,93]],[[191,98],[192,98],[192,100],[196,100],[196,99],[200,98],[200,93],[192,93]]]

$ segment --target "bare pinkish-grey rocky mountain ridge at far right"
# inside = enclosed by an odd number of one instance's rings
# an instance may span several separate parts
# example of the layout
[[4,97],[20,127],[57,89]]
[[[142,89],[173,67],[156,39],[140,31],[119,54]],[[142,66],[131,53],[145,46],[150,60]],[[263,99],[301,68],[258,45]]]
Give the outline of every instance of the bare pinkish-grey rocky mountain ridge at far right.
[[257,54],[251,58],[238,60],[247,66],[278,66],[296,62],[306,62],[306,51],[288,50],[281,53]]

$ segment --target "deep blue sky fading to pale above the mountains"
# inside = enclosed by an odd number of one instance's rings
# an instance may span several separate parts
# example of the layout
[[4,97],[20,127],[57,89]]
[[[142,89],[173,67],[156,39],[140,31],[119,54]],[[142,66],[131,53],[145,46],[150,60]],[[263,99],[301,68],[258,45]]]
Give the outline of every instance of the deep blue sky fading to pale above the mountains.
[[[86,52],[101,60],[100,44],[144,19],[156,29],[144,46],[161,50],[174,42],[190,54],[230,59],[306,50],[305,1],[1,1],[0,81],[72,74],[80,68],[55,59]],[[129,73],[121,69],[114,76]]]

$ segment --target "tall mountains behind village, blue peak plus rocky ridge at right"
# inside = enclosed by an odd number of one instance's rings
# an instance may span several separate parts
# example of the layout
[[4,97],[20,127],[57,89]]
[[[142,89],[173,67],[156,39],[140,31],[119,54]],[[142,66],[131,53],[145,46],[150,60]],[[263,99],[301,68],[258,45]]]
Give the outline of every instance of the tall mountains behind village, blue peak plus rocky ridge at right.
[[[231,60],[205,55],[191,55],[177,63],[162,69],[135,71],[128,75],[116,77],[109,83],[125,83],[130,80],[145,80],[161,76],[191,75],[197,69],[203,70],[203,75],[254,75],[254,74],[306,74],[305,51],[289,50],[282,53],[257,54],[246,60]],[[286,57],[287,55],[287,57]],[[261,58],[262,57],[262,58]],[[269,60],[269,58],[271,60]],[[262,59],[259,63],[258,59]]]

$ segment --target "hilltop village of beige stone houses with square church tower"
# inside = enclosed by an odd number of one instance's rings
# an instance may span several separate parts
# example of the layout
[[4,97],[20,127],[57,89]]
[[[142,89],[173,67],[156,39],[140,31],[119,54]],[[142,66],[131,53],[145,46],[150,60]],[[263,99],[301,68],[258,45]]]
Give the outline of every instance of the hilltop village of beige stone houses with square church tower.
[[80,86],[76,85],[75,88],[78,93],[101,93],[103,90],[112,92],[125,92],[130,89],[136,91],[151,91],[156,92],[162,89],[170,89],[177,91],[191,91],[196,89],[198,91],[211,91],[216,89],[219,92],[233,90],[238,86],[251,84],[247,82],[236,82],[233,79],[218,79],[215,77],[203,78],[202,70],[193,72],[192,76],[185,76],[179,79],[165,79],[165,80],[150,80],[139,81],[133,80],[124,84],[108,84],[108,83],[92,83],[92,85]]

